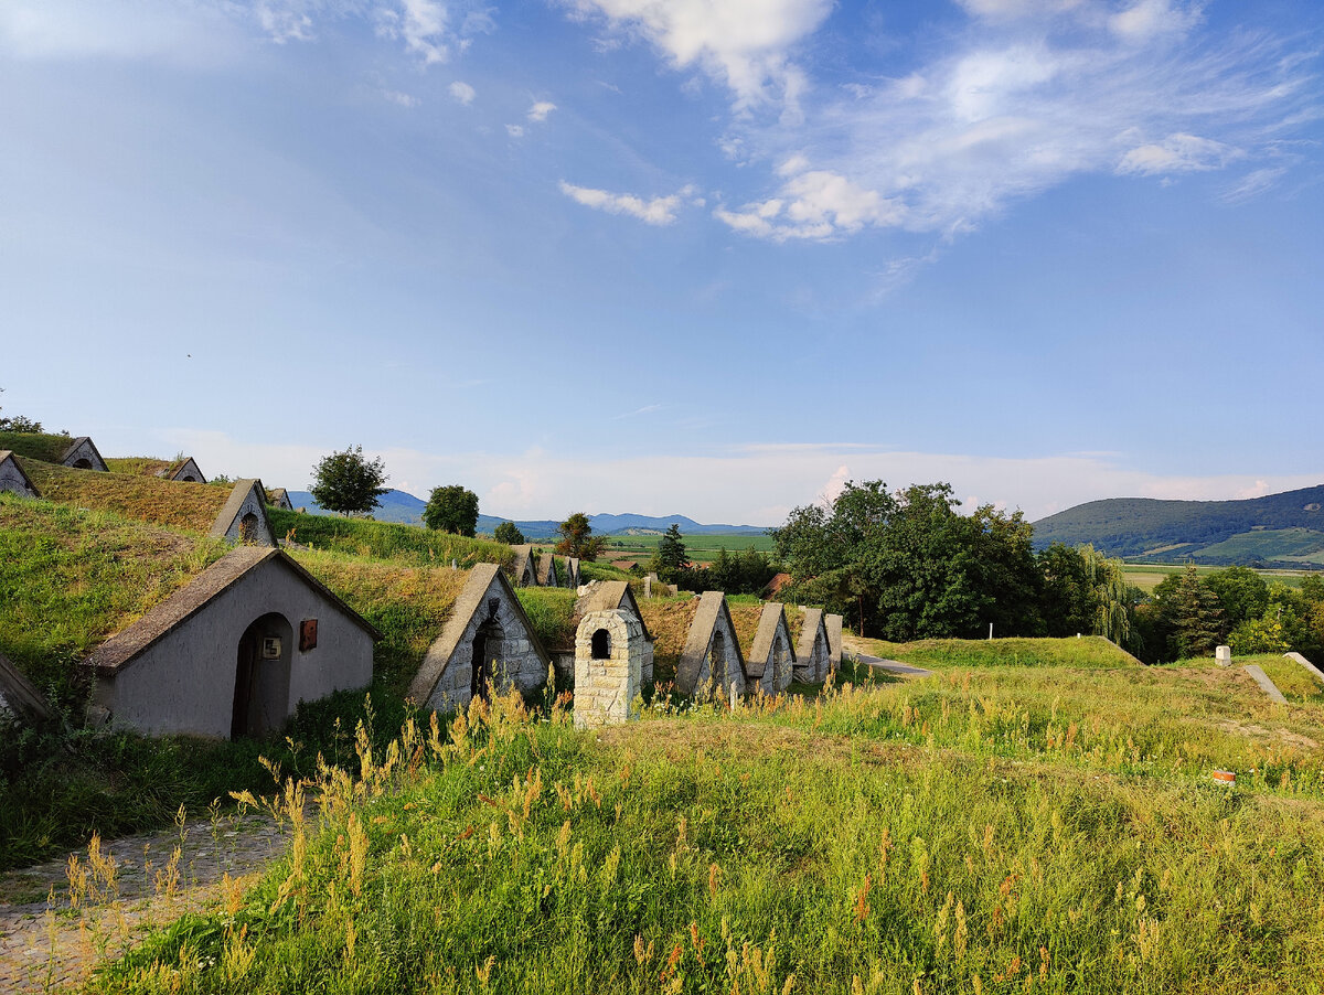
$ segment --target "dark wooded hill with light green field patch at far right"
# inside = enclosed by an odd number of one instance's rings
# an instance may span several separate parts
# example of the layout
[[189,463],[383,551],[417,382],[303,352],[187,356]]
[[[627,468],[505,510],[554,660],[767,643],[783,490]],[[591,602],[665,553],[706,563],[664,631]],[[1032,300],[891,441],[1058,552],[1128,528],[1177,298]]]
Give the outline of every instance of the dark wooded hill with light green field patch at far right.
[[1035,546],[1050,542],[1157,562],[1324,568],[1324,484],[1237,501],[1088,501],[1034,523]]

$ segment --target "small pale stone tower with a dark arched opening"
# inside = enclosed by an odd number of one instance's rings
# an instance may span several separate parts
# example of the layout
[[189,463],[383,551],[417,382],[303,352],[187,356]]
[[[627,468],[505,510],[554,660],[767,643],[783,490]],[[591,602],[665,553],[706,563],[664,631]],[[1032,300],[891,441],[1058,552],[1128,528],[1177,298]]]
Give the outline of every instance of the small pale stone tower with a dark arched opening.
[[575,726],[638,718],[643,626],[629,611],[591,611],[575,632]]

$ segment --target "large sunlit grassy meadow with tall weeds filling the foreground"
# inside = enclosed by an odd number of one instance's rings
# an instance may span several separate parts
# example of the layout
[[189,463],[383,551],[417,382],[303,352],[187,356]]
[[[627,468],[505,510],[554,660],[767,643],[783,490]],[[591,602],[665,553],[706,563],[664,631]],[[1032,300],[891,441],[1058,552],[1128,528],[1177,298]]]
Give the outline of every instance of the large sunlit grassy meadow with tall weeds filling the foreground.
[[951,667],[596,733],[499,699],[371,740],[287,789],[257,887],[93,988],[1324,988],[1324,708],[1239,672]]

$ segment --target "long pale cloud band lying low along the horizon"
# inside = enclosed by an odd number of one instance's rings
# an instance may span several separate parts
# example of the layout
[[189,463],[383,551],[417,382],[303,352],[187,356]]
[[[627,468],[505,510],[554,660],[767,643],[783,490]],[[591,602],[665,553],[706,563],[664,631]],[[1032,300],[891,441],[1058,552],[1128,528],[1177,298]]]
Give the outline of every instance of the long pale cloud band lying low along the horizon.
[[[277,445],[193,430],[163,431],[159,438],[160,451],[192,453],[208,472],[260,476],[291,490],[306,490],[308,467],[343,445],[338,439],[327,439],[322,446]],[[111,434],[107,439],[105,446],[118,446],[119,451],[144,445],[139,437],[117,441]],[[1106,454],[990,456],[839,443],[763,443],[700,454],[637,453],[624,458],[536,449],[444,455],[385,449],[367,455],[381,455],[391,474],[389,486],[410,494],[425,496],[432,487],[465,480],[479,495],[483,513],[559,519],[573,511],[641,515],[679,511],[706,523],[755,525],[780,524],[790,508],[818,500],[845,478],[882,479],[890,487],[947,480],[957,494],[1022,508],[1031,520],[1099,498],[1215,500],[1320,483],[1317,475],[1263,472],[1162,476]]]

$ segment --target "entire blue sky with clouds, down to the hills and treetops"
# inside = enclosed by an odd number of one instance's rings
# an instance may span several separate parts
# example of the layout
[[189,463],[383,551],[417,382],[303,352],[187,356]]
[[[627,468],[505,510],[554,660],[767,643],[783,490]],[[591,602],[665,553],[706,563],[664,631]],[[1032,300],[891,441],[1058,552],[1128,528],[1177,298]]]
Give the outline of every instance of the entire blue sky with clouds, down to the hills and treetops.
[[773,524],[1324,482],[1315,0],[7,0],[0,404]]

